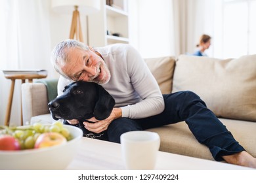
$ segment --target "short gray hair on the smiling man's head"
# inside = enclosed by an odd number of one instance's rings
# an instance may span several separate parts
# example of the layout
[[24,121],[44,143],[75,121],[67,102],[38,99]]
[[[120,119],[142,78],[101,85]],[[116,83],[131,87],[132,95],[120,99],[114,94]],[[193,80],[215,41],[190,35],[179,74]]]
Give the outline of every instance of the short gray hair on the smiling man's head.
[[83,42],[76,41],[74,39],[66,39],[60,43],[58,43],[54,48],[51,54],[51,62],[53,64],[54,69],[60,75],[68,78],[63,71],[61,70],[60,66],[68,63],[69,57],[67,50],[70,48],[79,48],[81,50],[89,50],[89,46],[85,45]]

